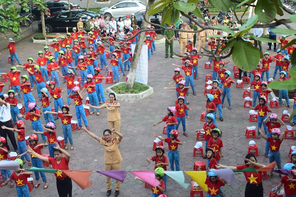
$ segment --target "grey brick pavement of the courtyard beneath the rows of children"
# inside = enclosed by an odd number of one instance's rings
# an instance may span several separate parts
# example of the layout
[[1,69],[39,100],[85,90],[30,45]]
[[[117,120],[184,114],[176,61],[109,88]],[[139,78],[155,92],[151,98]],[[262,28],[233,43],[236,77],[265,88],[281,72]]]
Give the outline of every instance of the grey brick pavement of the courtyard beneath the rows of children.
[[[164,136],[162,134],[164,123],[160,123],[155,128],[153,128],[153,123],[163,118],[166,115],[166,108],[175,105],[176,93],[174,90],[164,90],[163,87],[166,86],[168,82],[171,81],[173,77],[174,66],[171,63],[181,65],[181,61],[174,58],[165,59],[165,48],[163,44],[157,44],[157,51],[155,51],[152,56],[152,60],[149,61],[149,80],[148,84],[154,88],[154,94],[150,97],[142,99],[140,101],[125,102],[119,101],[121,107],[119,109],[121,114],[121,133],[124,137],[122,143],[120,144],[120,152],[123,157],[121,162],[121,169],[124,170],[153,170],[153,165],[148,164],[146,161],[147,157],[151,157],[155,154],[152,152],[153,137],[151,132],[156,132],[158,135]],[[25,50],[21,50],[24,48]],[[174,51],[178,51],[179,45],[177,42],[174,43]],[[267,48],[264,44],[263,49]],[[33,44],[30,39],[25,39],[16,44],[16,50],[18,57],[22,63],[26,63],[28,57],[33,57],[36,59],[37,52],[43,51],[43,45]],[[51,49],[52,50],[52,49]],[[271,53],[273,55],[274,52]],[[194,161],[203,160],[201,157],[192,157],[193,146],[196,143],[196,133],[195,129],[202,128],[204,122],[200,122],[200,115],[202,111],[205,111],[205,96],[203,95],[204,85],[205,85],[205,74],[211,74],[211,70],[204,69],[204,64],[207,62],[207,58],[204,57],[199,60],[199,79],[194,80],[196,84],[197,95],[193,96],[192,91],[190,91],[188,100],[190,102],[189,107],[192,108],[190,112],[190,120],[186,120],[186,129],[188,137],[179,135],[179,139],[183,142],[183,145],[179,146],[180,151],[180,166],[181,170],[192,170]],[[7,54],[0,56],[0,65],[2,72],[8,72],[11,65],[7,64]],[[226,68],[231,70],[233,76],[233,62],[226,65]],[[274,71],[274,63],[271,63],[271,71]],[[22,73],[28,74],[27,71],[22,71]],[[103,70],[102,74],[105,76],[106,71]],[[184,74],[181,71],[181,74]],[[122,77],[121,81],[124,81],[125,77]],[[9,82],[6,83],[4,87],[4,92],[8,90]],[[106,88],[110,84],[103,84]],[[65,89],[65,84],[62,84]],[[173,87],[173,84],[171,85]],[[244,136],[244,131],[247,126],[257,126],[257,123],[249,122],[249,108],[243,108],[244,99],[242,98],[242,89],[236,89],[234,85],[231,87],[231,107],[229,110],[227,102],[223,108],[223,118],[224,121],[221,122],[217,119],[217,124],[221,131],[223,132],[222,141],[224,144],[223,154],[224,159],[220,160],[222,164],[225,165],[241,165],[244,163],[243,159],[247,154],[248,142],[251,139],[246,139]],[[37,97],[36,86],[33,91],[34,97]],[[83,93],[84,97],[87,97],[86,93]],[[62,97],[66,97],[66,93],[62,94]],[[65,100],[65,99],[64,99]],[[76,120],[75,110],[73,110],[74,105],[71,101],[70,113],[73,113],[73,120]],[[40,105],[40,103],[38,103]],[[53,103],[51,103],[53,106]],[[280,109],[272,109],[274,113],[281,116],[281,113],[286,107]],[[292,112],[290,109],[289,112]],[[102,136],[102,131],[108,128],[106,115],[107,111],[105,109],[101,110],[101,115],[91,115],[87,119],[89,121],[90,131],[96,133],[98,136]],[[41,115],[42,123],[45,123],[43,115]],[[29,121],[26,123],[26,136],[32,133],[32,127]],[[62,136],[62,126],[61,121],[58,119],[57,123],[57,136]],[[99,123],[99,124],[98,124]],[[284,128],[284,127],[282,127]],[[96,140],[92,139],[82,130],[73,132],[73,140],[75,149],[70,151],[70,169],[73,170],[104,170],[104,152],[103,147],[97,143]],[[258,162],[267,165],[268,159],[264,157],[264,147],[265,140],[255,140],[258,144],[259,157]],[[204,144],[204,141],[202,141]],[[9,142],[10,143],[10,142]],[[289,161],[287,156],[289,149],[292,145],[295,145],[292,140],[284,140],[281,145],[281,160],[282,166]],[[164,144],[167,155],[167,144]],[[205,145],[203,145],[205,146]],[[231,149],[229,149],[231,148]],[[285,151],[284,151],[285,150]],[[45,147],[43,153],[48,154],[48,149]],[[27,168],[28,165],[26,164]],[[226,196],[238,197],[244,196],[244,189],[246,185],[245,177],[242,173],[235,173],[235,178],[237,180],[237,185],[227,184],[223,187]],[[55,178],[53,174],[46,174],[49,181],[49,188],[44,190],[43,183],[38,189],[33,188],[32,196],[57,196],[57,189]],[[32,176],[35,178],[35,176]],[[82,191],[75,183],[73,183],[73,196],[105,196],[106,195],[106,185],[105,176],[93,172],[90,176],[90,180],[93,180],[93,185],[90,188]],[[268,180],[263,180],[264,196],[268,196],[271,188],[275,187],[279,183],[279,176],[274,175],[273,178],[268,178]],[[191,182],[189,176],[185,174],[185,181],[187,183]],[[190,187],[182,188],[178,183],[176,183],[171,178],[168,178],[168,194],[169,196],[189,196]],[[112,181],[112,193],[114,195],[115,181]],[[16,196],[15,188],[10,189],[9,185],[0,188],[0,192],[4,196]],[[127,174],[126,180],[121,184],[120,195],[119,196],[151,196],[151,189],[144,189],[144,183],[139,181],[134,181],[131,173]],[[204,193],[206,195],[206,193]]]

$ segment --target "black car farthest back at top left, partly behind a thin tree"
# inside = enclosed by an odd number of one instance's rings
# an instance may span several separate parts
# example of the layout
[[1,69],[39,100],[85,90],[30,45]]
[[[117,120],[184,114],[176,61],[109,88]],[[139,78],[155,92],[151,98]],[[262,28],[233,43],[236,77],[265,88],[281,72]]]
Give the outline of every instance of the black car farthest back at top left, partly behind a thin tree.
[[[57,1],[57,0],[47,2],[46,6],[50,11],[51,16],[57,15],[64,10],[68,10],[69,8],[68,1]],[[70,3],[70,9],[79,9],[79,8],[80,8],[79,4]],[[41,17],[40,10],[37,9],[36,4],[32,3],[30,6],[30,9],[32,11],[33,20],[40,19]],[[26,12],[26,11],[21,8],[20,13],[23,13],[23,12]]]

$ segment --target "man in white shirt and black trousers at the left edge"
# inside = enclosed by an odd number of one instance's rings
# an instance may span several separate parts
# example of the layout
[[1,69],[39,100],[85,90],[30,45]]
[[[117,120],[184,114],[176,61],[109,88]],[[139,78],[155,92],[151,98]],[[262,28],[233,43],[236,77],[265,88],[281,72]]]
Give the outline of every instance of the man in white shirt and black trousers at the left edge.
[[4,101],[3,95],[0,95],[0,136],[6,139],[5,147],[9,151],[10,148],[7,143],[8,136],[13,148],[15,149],[15,152],[18,153],[17,142],[15,141],[15,134],[8,129],[3,129],[2,126],[13,128],[11,122],[10,104]]

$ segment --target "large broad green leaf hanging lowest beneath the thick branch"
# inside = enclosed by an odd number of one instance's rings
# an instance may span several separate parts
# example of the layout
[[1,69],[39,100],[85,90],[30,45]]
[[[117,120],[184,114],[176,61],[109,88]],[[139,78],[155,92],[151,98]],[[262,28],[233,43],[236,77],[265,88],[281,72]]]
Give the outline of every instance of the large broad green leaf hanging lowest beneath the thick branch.
[[258,65],[260,53],[249,42],[239,39],[233,47],[232,59],[237,67],[250,72]]

